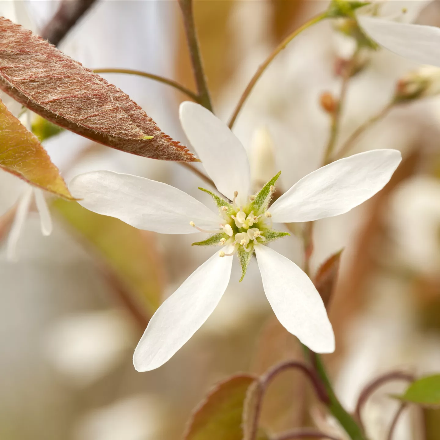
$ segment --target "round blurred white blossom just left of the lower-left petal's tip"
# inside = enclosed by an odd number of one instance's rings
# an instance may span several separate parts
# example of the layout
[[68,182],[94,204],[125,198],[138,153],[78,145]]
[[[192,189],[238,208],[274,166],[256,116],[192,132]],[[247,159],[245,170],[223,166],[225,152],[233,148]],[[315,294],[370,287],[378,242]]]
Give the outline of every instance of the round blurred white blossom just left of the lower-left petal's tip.
[[48,359],[64,377],[83,387],[109,373],[136,341],[119,310],[85,312],[52,325],[44,341]]

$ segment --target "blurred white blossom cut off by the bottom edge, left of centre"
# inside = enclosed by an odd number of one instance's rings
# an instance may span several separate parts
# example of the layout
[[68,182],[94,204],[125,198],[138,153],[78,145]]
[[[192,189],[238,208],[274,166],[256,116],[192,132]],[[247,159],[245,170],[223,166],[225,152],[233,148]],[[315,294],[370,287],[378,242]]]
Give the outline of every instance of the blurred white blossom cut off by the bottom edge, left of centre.
[[74,440],[156,440],[164,417],[161,402],[139,395],[94,410],[78,423]]

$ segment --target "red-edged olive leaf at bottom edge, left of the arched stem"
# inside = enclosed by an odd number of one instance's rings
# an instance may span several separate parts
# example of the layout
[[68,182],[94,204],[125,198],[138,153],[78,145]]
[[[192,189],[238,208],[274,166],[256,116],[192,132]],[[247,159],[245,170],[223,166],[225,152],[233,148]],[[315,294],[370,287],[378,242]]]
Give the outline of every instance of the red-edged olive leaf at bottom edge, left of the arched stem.
[[240,374],[220,382],[193,413],[184,440],[242,440],[242,414],[254,376]]

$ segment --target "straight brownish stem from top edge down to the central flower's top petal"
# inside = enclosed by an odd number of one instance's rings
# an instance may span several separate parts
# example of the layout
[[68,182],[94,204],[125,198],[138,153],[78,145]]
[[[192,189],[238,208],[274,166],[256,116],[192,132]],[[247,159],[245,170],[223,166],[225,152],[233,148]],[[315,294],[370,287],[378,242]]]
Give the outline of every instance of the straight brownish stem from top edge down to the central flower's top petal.
[[179,0],[179,5],[183,15],[183,26],[185,27],[194,79],[197,86],[198,102],[208,110],[213,111],[208,85],[206,84],[205,71],[203,70],[197,33],[195,30],[193,2],[192,0]]

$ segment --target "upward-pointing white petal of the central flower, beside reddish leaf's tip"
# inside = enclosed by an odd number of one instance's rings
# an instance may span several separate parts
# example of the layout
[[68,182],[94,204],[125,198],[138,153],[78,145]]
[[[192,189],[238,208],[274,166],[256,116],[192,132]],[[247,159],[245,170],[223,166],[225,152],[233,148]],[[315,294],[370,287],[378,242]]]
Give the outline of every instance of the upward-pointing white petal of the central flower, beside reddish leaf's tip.
[[238,191],[238,205],[246,205],[250,167],[246,150],[227,125],[199,104],[180,104],[180,122],[191,145],[217,189],[227,198]]

